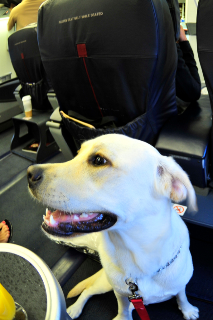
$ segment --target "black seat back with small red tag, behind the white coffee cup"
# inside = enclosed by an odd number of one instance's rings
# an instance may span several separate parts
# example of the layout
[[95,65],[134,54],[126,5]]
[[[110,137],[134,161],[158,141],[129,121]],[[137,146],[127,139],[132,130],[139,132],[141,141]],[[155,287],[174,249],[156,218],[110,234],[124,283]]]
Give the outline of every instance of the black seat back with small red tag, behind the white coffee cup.
[[8,38],[8,46],[13,68],[22,85],[21,95],[31,95],[33,109],[52,109],[47,98],[49,84],[38,47],[37,24],[13,33]]

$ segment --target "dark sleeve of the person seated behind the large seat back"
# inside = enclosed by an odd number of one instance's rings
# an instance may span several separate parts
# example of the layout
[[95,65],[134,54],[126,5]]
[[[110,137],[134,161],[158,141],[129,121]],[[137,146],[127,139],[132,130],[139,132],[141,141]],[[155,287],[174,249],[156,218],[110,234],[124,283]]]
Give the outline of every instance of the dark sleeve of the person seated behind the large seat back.
[[176,96],[186,102],[196,101],[201,95],[201,80],[188,41],[176,43],[178,67],[176,71]]

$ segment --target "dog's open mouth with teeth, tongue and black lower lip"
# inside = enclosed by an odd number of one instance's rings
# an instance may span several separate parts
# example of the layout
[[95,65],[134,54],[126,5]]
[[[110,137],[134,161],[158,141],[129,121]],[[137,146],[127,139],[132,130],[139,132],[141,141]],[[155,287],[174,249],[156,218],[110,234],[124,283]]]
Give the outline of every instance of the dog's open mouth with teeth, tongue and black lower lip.
[[114,214],[83,212],[73,213],[46,209],[42,228],[54,236],[70,236],[74,232],[97,232],[113,226],[117,217]]

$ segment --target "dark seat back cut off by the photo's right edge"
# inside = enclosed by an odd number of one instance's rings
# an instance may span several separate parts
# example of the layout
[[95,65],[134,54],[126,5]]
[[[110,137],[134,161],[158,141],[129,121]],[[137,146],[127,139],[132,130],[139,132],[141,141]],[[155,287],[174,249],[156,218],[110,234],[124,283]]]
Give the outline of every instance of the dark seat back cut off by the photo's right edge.
[[[213,112],[213,40],[212,40],[212,15],[213,3],[200,0],[197,9],[197,51],[200,60],[204,80],[209,92],[211,104],[211,118]],[[211,152],[210,152],[210,173],[213,179],[213,128],[211,127]]]

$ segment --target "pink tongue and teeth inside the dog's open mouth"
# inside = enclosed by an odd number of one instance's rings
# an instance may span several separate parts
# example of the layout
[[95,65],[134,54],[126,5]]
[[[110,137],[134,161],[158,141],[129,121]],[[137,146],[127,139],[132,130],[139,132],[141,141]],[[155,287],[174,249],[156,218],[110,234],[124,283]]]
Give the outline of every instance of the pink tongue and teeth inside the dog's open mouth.
[[99,213],[74,213],[71,215],[70,213],[56,210],[51,212],[46,209],[46,216],[43,216],[44,222],[50,227],[56,227],[60,222],[78,222],[78,221],[87,221],[95,218]]

